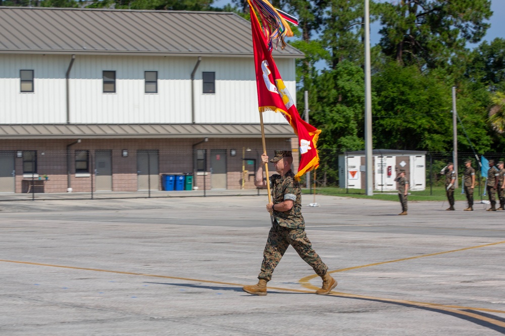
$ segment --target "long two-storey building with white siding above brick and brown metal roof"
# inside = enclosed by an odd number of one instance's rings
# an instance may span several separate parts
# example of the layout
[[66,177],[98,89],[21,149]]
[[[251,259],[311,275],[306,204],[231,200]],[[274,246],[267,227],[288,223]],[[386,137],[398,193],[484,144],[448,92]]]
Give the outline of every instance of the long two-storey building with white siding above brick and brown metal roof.
[[[0,192],[254,188],[261,149],[250,23],[232,13],[0,8]],[[293,47],[273,56],[295,96]],[[264,113],[267,147],[298,148]],[[237,153],[238,154],[235,154]],[[245,163],[244,163],[245,161]],[[35,175],[34,175],[35,174]],[[69,189],[71,188],[71,189]]]

